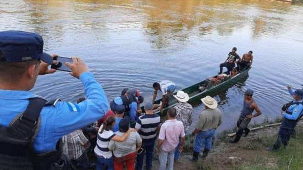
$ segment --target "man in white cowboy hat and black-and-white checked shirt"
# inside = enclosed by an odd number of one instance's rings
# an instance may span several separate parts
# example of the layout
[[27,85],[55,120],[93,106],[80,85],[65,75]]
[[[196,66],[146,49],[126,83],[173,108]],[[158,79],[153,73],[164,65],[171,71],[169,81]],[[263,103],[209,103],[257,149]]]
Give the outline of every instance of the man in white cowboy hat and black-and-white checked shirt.
[[[179,90],[177,92],[177,95],[173,95],[177,101],[178,104],[174,107],[177,112],[177,117],[176,119],[181,121],[184,125],[184,131],[186,134],[186,131],[189,129],[191,123],[192,123],[192,117],[194,114],[194,110],[192,106],[188,103],[186,103],[189,100],[189,96],[187,93],[184,93],[184,91]],[[175,161],[178,162],[178,159],[180,157],[180,152],[179,152],[179,145],[175,149]]]

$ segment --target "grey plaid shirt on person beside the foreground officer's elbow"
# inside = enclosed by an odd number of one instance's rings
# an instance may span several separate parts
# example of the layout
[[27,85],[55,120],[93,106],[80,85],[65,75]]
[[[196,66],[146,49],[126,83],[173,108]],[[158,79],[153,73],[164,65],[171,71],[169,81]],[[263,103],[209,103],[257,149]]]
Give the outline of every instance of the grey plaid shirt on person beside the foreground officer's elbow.
[[65,136],[62,136],[63,153],[72,160],[77,160],[85,153],[85,145],[88,139],[84,136],[81,130],[75,130]]

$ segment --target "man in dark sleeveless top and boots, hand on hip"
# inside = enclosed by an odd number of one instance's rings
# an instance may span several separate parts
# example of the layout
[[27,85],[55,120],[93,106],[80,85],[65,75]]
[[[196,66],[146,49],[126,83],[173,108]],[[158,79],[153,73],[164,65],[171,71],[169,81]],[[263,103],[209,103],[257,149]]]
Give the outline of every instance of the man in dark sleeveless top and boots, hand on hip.
[[[250,132],[250,129],[247,128],[249,122],[251,121],[252,118],[260,116],[261,110],[258,106],[258,104],[255,102],[255,100],[252,98],[252,95],[254,94],[254,91],[251,89],[247,89],[244,93],[244,104],[243,104],[243,109],[241,111],[240,117],[237,121],[237,127],[238,131],[236,133],[236,137],[234,140],[230,140],[230,143],[237,143],[242,134],[243,130],[245,131],[244,136],[247,136],[248,133]],[[256,114],[252,114],[254,111],[256,111]]]

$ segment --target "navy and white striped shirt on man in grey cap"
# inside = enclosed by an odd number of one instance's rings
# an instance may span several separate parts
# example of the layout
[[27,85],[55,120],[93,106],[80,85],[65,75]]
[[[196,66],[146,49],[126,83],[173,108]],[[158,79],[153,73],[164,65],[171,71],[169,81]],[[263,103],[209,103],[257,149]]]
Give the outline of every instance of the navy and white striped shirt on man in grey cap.
[[136,129],[144,142],[153,141],[157,136],[157,128],[161,126],[161,117],[158,114],[145,114],[137,120]]

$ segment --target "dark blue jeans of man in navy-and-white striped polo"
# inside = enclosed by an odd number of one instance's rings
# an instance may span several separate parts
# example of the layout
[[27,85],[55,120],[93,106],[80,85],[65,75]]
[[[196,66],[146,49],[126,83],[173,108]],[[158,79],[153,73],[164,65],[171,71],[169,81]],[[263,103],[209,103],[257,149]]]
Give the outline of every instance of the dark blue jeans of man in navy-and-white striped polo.
[[137,155],[136,170],[142,170],[143,160],[144,160],[144,155],[145,154],[146,154],[146,158],[145,158],[146,166],[145,166],[145,168],[146,169],[151,169],[154,147],[155,147],[155,141],[145,143],[144,140],[143,140],[142,148],[144,149],[144,151],[140,155]]

